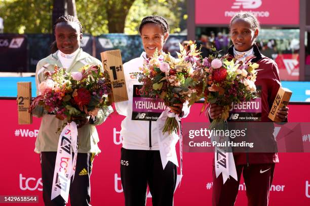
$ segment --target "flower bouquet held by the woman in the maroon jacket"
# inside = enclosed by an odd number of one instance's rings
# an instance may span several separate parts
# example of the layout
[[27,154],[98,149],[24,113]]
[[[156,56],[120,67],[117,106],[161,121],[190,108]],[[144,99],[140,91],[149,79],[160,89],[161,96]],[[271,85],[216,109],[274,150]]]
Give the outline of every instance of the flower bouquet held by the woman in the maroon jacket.
[[204,107],[214,103],[224,107],[223,113],[212,121],[210,128],[223,128],[232,103],[255,98],[259,65],[251,63],[253,58],[255,57],[250,56],[245,61],[239,61],[229,55],[221,58],[211,55],[202,60],[199,69],[204,73],[201,79],[205,83],[200,94],[205,97]]

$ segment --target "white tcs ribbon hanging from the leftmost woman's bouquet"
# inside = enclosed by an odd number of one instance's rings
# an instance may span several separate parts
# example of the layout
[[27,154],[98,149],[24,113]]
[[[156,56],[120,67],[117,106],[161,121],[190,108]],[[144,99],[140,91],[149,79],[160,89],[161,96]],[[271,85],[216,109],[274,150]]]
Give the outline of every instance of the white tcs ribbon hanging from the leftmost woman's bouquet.
[[77,141],[78,128],[75,122],[68,123],[59,136],[51,199],[61,195],[68,202],[71,177],[74,178],[78,158]]

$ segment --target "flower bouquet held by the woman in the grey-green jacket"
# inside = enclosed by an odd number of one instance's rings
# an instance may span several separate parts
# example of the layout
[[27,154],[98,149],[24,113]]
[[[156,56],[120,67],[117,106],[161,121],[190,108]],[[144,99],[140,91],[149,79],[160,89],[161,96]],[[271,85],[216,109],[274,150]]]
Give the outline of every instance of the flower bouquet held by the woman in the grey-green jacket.
[[45,81],[38,85],[40,95],[32,100],[30,112],[41,105],[49,114],[70,123],[73,117],[94,118],[99,109],[110,106],[106,95],[111,92],[111,86],[100,65],[86,65],[81,72],[72,73],[55,65],[54,71],[45,72],[44,77]]

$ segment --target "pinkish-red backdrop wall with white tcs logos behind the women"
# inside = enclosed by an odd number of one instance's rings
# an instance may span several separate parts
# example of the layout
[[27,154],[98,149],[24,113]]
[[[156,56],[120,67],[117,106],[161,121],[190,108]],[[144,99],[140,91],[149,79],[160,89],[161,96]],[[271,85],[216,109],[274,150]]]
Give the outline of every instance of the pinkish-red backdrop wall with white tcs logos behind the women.
[[[0,100],[0,107],[3,108],[1,110],[3,118],[0,123],[5,128],[2,131],[2,138],[0,138],[2,145],[0,163],[5,166],[3,167],[3,175],[5,176],[2,179],[0,194],[38,196],[38,203],[27,203],[27,205],[44,205],[40,154],[33,152],[36,139],[34,133],[40,128],[41,119],[33,118],[31,125],[18,125],[17,112],[14,112],[17,107],[16,100]],[[202,104],[191,106],[190,114],[182,119],[183,126],[186,122],[203,122],[205,123],[204,126],[207,127],[208,118],[199,115],[201,107]],[[307,122],[309,120],[309,106],[289,105],[288,107],[290,108],[290,122]],[[120,175],[122,147],[120,131],[123,119],[124,116],[111,115],[103,124],[96,126],[100,138],[98,144],[102,152],[94,158],[93,162],[90,202],[92,205],[124,205]],[[20,131],[20,129],[24,136],[21,135],[21,132],[19,135],[15,135],[15,132]],[[28,135],[26,136],[27,130]],[[30,131],[33,132],[33,136]],[[139,132],[138,129],[137,132]],[[280,132],[282,131],[280,130]],[[289,133],[286,129],[283,132]],[[183,136],[185,134],[183,128]],[[301,136],[298,136],[299,138],[301,139]],[[186,139],[184,138],[183,141]],[[304,139],[306,138],[304,137]],[[307,142],[310,143],[309,139]],[[181,184],[177,186],[175,191],[175,205],[211,205],[213,159],[214,153],[212,152],[183,152],[183,177]],[[270,189],[269,204],[276,206],[309,205],[310,166],[307,164],[307,160],[310,159],[310,153],[280,152],[279,159],[280,163],[276,165],[273,185]],[[123,164],[127,163],[123,162]],[[130,165],[130,162],[128,164]],[[81,171],[76,171],[75,175],[79,176],[80,173]],[[147,196],[146,205],[151,205],[152,198],[149,197],[149,192]],[[287,198],[288,196],[294,196],[294,198]],[[242,177],[235,204],[247,204],[246,187]],[[8,205],[13,205],[13,203]]]

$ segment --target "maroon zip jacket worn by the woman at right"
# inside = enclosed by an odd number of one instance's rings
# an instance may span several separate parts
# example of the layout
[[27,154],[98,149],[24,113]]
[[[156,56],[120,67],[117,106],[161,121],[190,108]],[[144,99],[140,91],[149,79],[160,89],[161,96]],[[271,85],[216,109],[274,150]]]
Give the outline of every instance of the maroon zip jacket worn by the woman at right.
[[[233,48],[234,47],[231,46],[228,49],[228,54],[231,56],[234,56]],[[276,98],[279,87],[281,86],[279,69],[277,64],[273,60],[263,56],[259,52],[259,49],[255,44],[253,46],[253,51],[255,59],[252,59],[251,62],[259,64],[259,68],[257,69],[259,71],[257,73],[255,85],[256,87],[261,88],[261,122],[272,122],[272,120],[268,118],[268,114]],[[248,130],[247,135],[249,135],[250,137],[251,135],[256,135],[256,139],[257,137],[262,137],[265,140],[267,139],[269,142],[273,142],[271,144],[275,144],[275,147],[277,147],[276,141],[274,140],[273,132],[274,127],[272,126],[272,124],[270,124],[269,128],[266,128],[264,126],[263,129],[254,128],[254,130],[252,131]],[[270,146],[270,143],[267,144],[268,146]],[[234,152],[234,159],[236,165],[279,162],[277,152]]]

